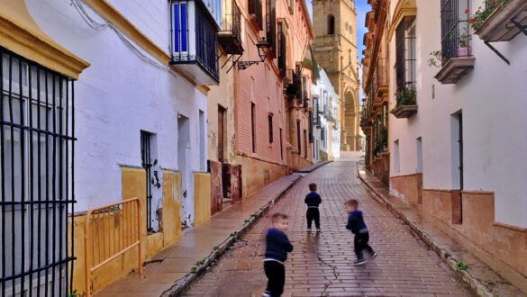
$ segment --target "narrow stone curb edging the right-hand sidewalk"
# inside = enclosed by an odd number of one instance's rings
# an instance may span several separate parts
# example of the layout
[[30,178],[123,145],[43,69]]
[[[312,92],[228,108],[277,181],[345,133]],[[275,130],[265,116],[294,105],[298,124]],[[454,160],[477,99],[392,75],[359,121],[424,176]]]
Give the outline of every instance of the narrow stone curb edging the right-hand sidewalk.
[[485,284],[482,284],[476,277],[470,275],[468,271],[458,271],[458,269],[456,269],[456,264],[458,260],[453,258],[446,248],[440,247],[438,244],[436,244],[431,236],[426,234],[415,223],[413,223],[413,221],[409,220],[402,211],[397,210],[392,203],[386,201],[386,199],[381,193],[378,193],[373,186],[368,184],[368,182],[365,181],[364,178],[359,174],[359,163],[357,164],[357,169],[357,175],[359,176],[360,181],[362,181],[363,184],[366,184],[368,189],[375,194],[376,201],[380,202],[389,211],[393,212],[397,218],[403,220],[404,224],[410,227],[413,233],[417,235],[418,238],[420,238],[426,244],[426,246],[429,247],[438,257],[440,257],[441,260],[443,260],[443,262],[447,264],[447,266],[450,267],[454,275],[456,275],[459,280],[461,280],[464,284],[468,285],[470,290],[472,290],[472,293],[475,293],[477,294],[477,296],[480,297],[496,296],[495,293],[492,293]]

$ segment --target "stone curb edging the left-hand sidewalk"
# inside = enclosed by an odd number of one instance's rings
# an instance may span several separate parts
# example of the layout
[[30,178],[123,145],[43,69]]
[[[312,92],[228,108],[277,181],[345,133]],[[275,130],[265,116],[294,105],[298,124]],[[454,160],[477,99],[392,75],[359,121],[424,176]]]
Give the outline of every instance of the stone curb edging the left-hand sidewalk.
[[[313,172],[315,169],[318,169],[321,166],[324,166],[330,162],[324,162],[320,166],[314,167],[311,171],[306,171],[305,173]],[[265,205],[259,208],[258,211],[251,214],[249,219],[245,220],[245,224],[241,226],[240,229],[235,230],[231,233],[231,236],[229,238],[226,238],[220,245],[214,247],[214,250],[209,254],[209,256],[204,257],[202,260],[198,261],[201,263],[199,266],[195,266],[195,270],[193,272],[188,273],[183,278],[180,278],[177,280],[175,284],[172,285],[167,291],[162,293],[160,297],[172,297],[172,296],[179,296],[180,294],[186,292],[186,290],[195,283],[195,281],[198,280],[199,276],[204,275],[204,273],[208,270],[209,267],[214,266],[214,262],[218,260],[220,257],[223,256],[223,254],[231,247],[238,238],[240,238],[243,234],[245,234],[248,230],[250,230],[253,225],[256,223],[259,218],[261,218],[264,214],[266,214],[271,206],[274,205],[275,202],[280,200],[290,189],[293,185],[295,185],[300,179],[302,179],[302,175],[297,175],[296,179],[289,184],[286,189],[280,193],[277,193],[272,199],[270,199]],[[194,267],[193,267],[194,268]]]

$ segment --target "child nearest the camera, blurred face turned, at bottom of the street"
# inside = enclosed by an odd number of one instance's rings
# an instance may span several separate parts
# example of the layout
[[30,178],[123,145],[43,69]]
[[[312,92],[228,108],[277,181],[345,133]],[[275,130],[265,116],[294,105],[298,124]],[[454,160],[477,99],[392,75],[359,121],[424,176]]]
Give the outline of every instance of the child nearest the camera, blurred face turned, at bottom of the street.
[[264,258],[264,271],[268,277],[268,286],[263,296],[278,297],[284,292],[286,284],[287,253],[293,251],[293,245],[286,236],[289,229],[288,217],[283,213],[275,213],[271,216],[273,228],[268,229],[266,236],[266,254]]

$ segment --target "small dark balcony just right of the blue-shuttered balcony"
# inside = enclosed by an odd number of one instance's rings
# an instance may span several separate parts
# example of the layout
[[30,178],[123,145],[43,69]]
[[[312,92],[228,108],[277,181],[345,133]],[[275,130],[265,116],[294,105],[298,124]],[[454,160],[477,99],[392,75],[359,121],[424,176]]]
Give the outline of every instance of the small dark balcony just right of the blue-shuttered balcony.
[[[224,14],[222,28],[218,32],[218,42],[223,51],[231,55],[241,55],[243,46],[241,45],[241,14],[235,1],[225,1],[225,10],[231,14]],[[230,7],[229,7],[230,5]]]

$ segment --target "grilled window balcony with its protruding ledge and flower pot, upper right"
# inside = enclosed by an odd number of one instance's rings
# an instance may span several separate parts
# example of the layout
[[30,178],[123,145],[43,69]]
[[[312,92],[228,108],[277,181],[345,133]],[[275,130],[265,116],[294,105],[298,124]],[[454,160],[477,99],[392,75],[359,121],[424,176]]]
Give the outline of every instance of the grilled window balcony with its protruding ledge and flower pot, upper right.
[[[466,5],[461,5],[466,4]],[[441,0],[442,67],[435,78],[443,85],[456,84],[474,69],[472,35],[468,19],[459,20],[459,11],[468,9],[468,1]]]

